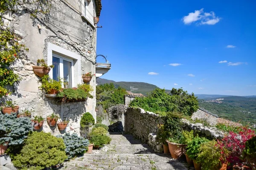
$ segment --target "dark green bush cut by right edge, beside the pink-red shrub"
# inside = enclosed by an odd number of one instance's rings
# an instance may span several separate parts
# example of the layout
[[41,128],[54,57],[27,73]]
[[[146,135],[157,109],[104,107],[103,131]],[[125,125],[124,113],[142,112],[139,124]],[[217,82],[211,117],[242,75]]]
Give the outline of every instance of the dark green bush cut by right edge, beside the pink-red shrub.
[[248,160],[249,164],[256,170],[256,136],[247,140],[243,151],[245,159]]

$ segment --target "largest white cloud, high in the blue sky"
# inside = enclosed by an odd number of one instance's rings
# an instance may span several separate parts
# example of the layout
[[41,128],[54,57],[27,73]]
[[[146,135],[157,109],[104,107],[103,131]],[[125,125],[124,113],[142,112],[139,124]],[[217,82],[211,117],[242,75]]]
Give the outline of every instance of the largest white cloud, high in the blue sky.
[[213,11],[204,12],[204,8],[190,12],[187,16],[182,18],[184,24],[191,24],[196,21],[198,25],[214,25],[220,21],[221,18],[216,17]]

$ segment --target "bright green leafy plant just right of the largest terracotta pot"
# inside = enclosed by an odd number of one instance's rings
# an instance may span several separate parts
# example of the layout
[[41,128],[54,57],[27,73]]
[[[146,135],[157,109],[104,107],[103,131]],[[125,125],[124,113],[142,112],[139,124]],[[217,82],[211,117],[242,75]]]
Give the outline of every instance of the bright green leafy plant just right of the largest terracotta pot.
[[208,142],[209,140],[206,138],[201,137],[195,137],[192,141],[188,143],[188,146],[186,147],[186,154],[189,156],[189,158],[193,160],[197,160],[198,154],[201,152],[201,144]]

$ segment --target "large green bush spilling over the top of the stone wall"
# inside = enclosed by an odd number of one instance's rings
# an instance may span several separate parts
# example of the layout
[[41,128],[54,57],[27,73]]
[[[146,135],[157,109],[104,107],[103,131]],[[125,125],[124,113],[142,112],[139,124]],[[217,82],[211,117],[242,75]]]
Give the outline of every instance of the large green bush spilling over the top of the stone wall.
[[129,106],[143,108],[145,111],[154,113],[177,111],[189,116],[199,108],[194,94],[190,95],[182,88],[172,88],[169,94],[165,89],[156,88],[147,97],[136,97]]

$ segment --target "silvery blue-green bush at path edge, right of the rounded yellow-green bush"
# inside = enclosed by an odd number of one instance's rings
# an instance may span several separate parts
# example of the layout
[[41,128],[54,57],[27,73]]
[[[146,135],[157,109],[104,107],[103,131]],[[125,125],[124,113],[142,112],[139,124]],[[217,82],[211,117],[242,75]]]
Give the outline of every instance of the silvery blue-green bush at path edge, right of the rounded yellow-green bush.
[[89,144],[88,139],[77,136],[76,133],[70,135],[70,133],[65,133],[64,136],[60,136],[64,140],[66,146],[66,154],[68,159],[75,156],[80,156],[87,151]]

